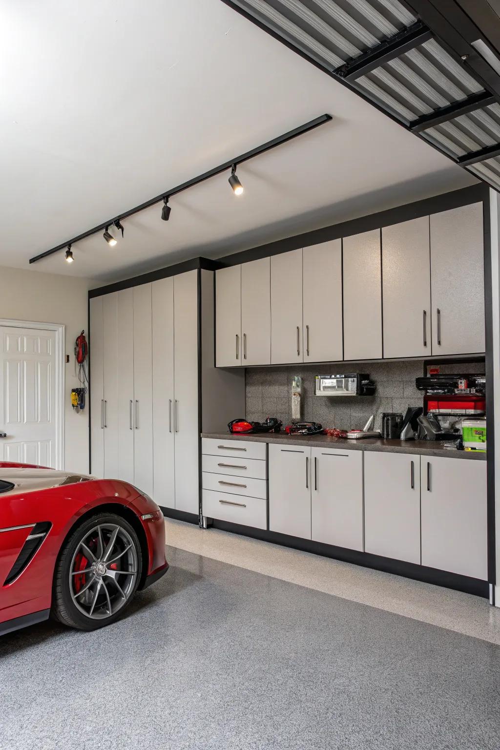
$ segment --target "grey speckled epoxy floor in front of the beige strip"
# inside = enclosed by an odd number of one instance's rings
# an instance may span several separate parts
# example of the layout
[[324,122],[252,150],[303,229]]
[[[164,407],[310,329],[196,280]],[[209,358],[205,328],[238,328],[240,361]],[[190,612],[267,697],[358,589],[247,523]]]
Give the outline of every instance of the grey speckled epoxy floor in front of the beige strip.
[[0,639],[1,750],[499,747],[499,646],[168,555],[115,625]]

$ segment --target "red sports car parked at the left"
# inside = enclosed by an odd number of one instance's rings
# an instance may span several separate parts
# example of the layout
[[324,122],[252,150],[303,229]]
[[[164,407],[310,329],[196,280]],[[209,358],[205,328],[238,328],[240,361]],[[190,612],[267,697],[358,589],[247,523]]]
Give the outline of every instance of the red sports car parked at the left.
[[160,508],[131,484],[0,462],[0,634],[94,630],[168,568]]

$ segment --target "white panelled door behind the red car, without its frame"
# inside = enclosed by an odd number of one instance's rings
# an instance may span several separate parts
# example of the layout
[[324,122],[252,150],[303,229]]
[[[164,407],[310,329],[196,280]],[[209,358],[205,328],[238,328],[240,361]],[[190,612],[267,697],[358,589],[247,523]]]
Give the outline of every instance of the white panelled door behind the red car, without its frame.
[[56,466],[55,332],[0,326],[0,460]]

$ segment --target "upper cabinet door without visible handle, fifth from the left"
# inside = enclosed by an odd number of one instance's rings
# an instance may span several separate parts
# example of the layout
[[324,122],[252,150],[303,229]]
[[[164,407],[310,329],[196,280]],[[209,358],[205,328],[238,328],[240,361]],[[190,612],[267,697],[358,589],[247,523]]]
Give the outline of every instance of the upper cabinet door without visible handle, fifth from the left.
[[382,357],[380,229],[343,243],[344,359]]

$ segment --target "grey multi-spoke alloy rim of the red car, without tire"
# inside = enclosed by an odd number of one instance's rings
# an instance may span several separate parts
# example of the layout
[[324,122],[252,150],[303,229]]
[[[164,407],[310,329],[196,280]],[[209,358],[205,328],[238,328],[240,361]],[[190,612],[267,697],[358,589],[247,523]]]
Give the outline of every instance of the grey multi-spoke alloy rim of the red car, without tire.
[[[87,562],[79,568],[84,558]],[[136,547],[127,530],[100,523],[80,539],[71,559],[71,598],[91,619],[111,617],[134,591],[137,570]]]

